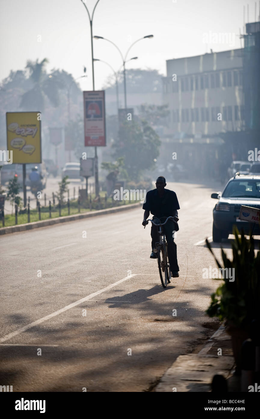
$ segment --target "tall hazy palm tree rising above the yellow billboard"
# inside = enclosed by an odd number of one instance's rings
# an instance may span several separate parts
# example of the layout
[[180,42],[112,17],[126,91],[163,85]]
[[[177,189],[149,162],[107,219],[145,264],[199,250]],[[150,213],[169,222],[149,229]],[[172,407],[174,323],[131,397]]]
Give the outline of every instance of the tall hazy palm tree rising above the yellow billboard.
[[47,75],[45,66],[48,59],[41,62],[28,60],[26,67],[29,70],[29,80],[33,87],[25,92],[21,98],[20,108],[28,111],[43,111],[46,96],[54,106],[59,105],[59,89],[64,85],[56,75]]

